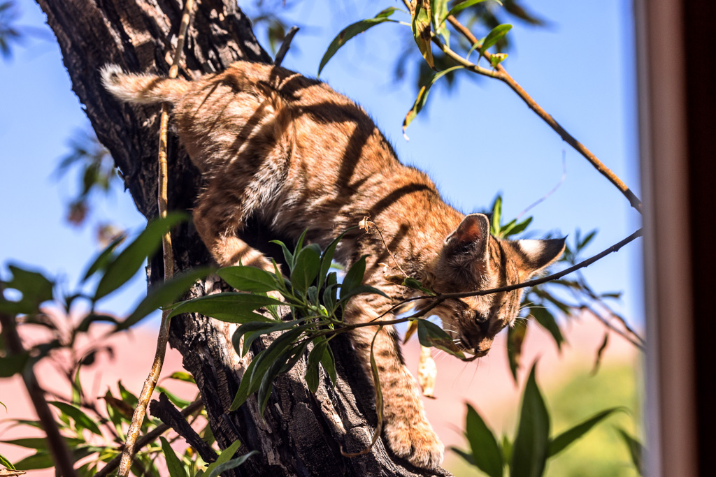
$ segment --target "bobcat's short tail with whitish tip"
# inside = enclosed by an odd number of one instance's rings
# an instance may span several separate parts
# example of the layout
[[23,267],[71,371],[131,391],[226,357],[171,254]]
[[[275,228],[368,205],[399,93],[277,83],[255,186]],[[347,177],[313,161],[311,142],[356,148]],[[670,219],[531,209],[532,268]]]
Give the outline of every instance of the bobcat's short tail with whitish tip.
[[116,64],[105,64],[100,74],[107,91],[117,99],[133,104],[175,103],[190,87],[190,82],[185,79],[125,73]]

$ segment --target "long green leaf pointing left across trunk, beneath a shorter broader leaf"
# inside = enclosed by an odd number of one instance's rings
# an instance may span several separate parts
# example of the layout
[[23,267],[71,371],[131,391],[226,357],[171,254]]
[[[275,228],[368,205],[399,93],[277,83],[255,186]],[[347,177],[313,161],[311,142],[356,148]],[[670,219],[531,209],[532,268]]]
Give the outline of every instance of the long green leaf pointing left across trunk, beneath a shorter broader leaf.
[[267,305],[283,305],[283,303],[275,298],[263,295],[223,292],[182,302],[172,310],[169,318],[173,318],[180,313],[200,313],[228,323],[271,322],[270,318],[253,313],[253,310],[258,310],[258,308]]

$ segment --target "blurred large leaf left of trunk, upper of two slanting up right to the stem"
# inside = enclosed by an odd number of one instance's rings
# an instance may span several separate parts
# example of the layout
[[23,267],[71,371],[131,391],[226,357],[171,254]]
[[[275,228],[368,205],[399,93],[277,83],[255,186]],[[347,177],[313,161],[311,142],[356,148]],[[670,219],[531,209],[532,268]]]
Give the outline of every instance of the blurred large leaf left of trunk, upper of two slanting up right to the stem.
[[167,217],[149,222],[147,228],[107,265],[107,272],[97,285],[95,301],[117,290],[133,277],[145,259],[159,250],[165,233],[187,219],[185,213],[171,212]]

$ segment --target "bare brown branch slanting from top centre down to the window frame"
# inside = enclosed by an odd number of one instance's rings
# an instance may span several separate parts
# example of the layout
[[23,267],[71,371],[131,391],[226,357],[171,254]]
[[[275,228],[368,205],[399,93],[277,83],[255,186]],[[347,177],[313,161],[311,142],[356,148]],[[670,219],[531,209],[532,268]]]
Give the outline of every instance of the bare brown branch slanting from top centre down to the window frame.
[[[451,25],[455,27],[457,31],[460,32],[460,34],[465,36],[465,38],[470,41],[470,44],[478,43],[479,40],[475,35],[473,35],[472,31],[463,26],[463,24],[461,24],[460,21],[455,18],[455,16],[448,16],[448,21]],[[450,50],[447,46],[440,44],[439,40],[437,40],[437,44],[440,46],[442,51],[445,52],[445,54],[448,54],[448,56],[455,59],[456,62],[462,64],[464,67],[478,74],[484,74],[485,76],[500,79],[500,81],[507,84],[514,92],[517,93],[519,97],[521,97],[521,99],[527,104],[530,109],[535,112],[535,114],[541,117],[541,119],[546,122],[549,127],[554,129],[554,131],[559,134],[563,141],[573,147],[577,152],[579,152],[579,154],[584,156],[584,158],[591,162],[591,164],[604,177],[606,177],[609,182],[611,182],[617,189],[619,189],[619,191],[621,191],[624,197],[627,197],[627,200],[629,200],[629,204],[631,204],[634,209],[638,210],[640,213],[642,212],[642,201],[639,200],[639,197],[637,197],[637,195],[635,195],[634,192],[632,192],[632,190],[629,189],[629,187],[627,187],[627,185],[624,184],[624,182],[619,179],[619,177],[614,174],[611,169],[609,169],[609,167],[606,167],[603,162],[597,159],[597,157],[589,149],[587,149],[584,144],[581,144],[581,142],[577,141],[574,136],[569,134],[569,132],[567,132],[566,129],[561,127],[561,125],[556,122],[555,119],[551,117],[550,114],[548,114],[548,112],[546,112],[539,104],[537,104],[537,102],[532,99],[529,94],[527,94],[527,92],[513,79],[513,77],[510,76],[510,74],[501,64],[498,64],[497,67],[495,67],[494,72],[490,72],[490,70],[478,67],[476,64],[472,64],[467,60],[463,59],[462,56],[455,54],[455,52]],[[485,56],[485,59],[487,59],[489,62],[490,56],[492,55],[490,55],[488,51],[484,51],[483,56]]]

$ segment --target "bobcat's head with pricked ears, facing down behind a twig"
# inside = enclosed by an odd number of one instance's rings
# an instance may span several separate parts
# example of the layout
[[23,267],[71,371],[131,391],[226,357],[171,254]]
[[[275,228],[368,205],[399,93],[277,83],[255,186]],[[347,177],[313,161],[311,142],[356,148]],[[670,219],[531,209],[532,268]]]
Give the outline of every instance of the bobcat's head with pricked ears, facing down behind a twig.
[[[489,290],[524,282],[557,260],[564,239],[501,240],[484,214],[470,214],[448,235],[426,280],[435,292]],[[461,350],[484,356],[518,315],[522,289],[445,300],[430,313]]]

